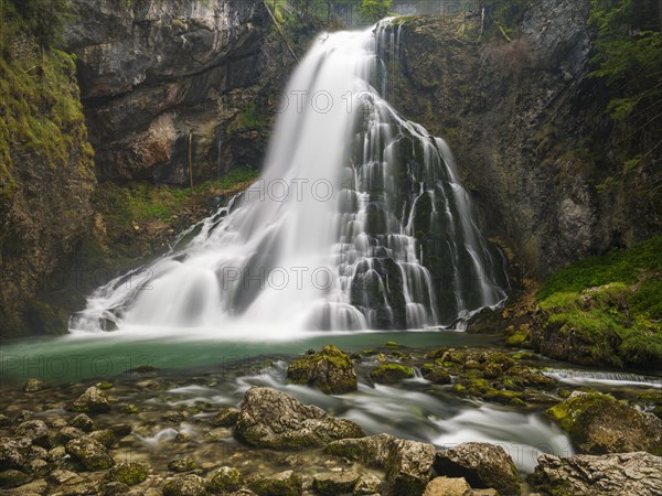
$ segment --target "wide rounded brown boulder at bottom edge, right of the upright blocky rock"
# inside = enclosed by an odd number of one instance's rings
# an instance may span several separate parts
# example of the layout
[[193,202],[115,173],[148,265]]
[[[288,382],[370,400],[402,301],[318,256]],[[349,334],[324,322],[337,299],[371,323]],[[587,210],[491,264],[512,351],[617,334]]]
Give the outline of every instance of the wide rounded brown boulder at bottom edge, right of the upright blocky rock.
[[501,494],[519,495],[520,475],[501,446],[462,443],[437,453],[435,470],[448,477],[465,477],[471,487],[494,488]]

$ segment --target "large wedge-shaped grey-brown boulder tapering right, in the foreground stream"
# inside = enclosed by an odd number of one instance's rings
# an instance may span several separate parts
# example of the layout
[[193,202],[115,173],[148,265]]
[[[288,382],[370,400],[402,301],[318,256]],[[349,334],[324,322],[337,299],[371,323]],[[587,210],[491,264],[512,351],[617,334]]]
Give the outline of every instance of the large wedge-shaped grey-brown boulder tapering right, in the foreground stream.
[[328,417],[319,407],[258,387],[246,391],[235,431],[235,436],[247,444],[275,449],[322,446],[363,435],[363,430],[351,420]]

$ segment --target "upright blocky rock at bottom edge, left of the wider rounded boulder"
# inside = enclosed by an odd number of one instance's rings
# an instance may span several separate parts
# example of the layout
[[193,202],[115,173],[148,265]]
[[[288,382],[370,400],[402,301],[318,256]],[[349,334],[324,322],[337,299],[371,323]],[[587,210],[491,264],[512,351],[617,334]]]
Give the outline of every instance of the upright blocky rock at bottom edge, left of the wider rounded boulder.
[[418,441],[396,440],[386,460],[391,494],[421,494],[433,474],[435,446]]

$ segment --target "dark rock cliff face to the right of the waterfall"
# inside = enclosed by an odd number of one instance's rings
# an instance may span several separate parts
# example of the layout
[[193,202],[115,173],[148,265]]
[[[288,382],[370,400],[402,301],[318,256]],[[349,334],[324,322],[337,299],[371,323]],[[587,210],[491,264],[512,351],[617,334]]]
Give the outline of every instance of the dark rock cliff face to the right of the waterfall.
[[532,277],[659,228],[627,187],[597,188],[622,163],[598,82],[587,78],[588,14],[586,0],[537,0],[511,43],[477,42],[479,21],[463,15],[394,26],[392,100],[449,141],[483,229]]

